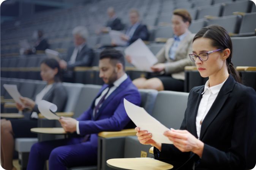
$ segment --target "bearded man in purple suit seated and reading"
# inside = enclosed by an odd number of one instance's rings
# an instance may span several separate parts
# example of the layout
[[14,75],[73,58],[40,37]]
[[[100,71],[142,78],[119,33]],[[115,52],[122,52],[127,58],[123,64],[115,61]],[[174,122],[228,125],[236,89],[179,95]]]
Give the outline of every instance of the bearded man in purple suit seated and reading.
[[28,160],[27,170],[43,170],[49,159],[49,170],[66,170],[66,167],[96,165],[98,133],[120,131],[130,122],[123,98],[139,105],[141,97],[125,73],[125,59],[120,51],[106,49],[100,54],[100,78],[104,85],[90,108],[77,119],[61,117],[67,132],[76,137],[35,143]]

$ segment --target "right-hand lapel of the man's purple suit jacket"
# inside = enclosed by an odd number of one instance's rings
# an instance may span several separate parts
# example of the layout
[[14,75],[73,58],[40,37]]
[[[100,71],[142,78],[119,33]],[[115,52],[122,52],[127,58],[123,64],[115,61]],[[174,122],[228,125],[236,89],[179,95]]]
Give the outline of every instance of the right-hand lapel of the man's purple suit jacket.
[[112,101],[112,99],[119,94],[120,92],[122,92],[122,90],[127,86],[127,84],[131,83],[131,79],[128,77],[126,78],[125,81],[123,81],[123,83],[120,84],[120,86],[118,86],[114,92],[112,92],[109,97],[106,98],[106,100],[102,103],[102,106],[99,109],[98,114],[95,117],[95,120],[98,119],[99,115],[101,114],[101,112],[103,111],[103,109],[107,106],[107,104]]

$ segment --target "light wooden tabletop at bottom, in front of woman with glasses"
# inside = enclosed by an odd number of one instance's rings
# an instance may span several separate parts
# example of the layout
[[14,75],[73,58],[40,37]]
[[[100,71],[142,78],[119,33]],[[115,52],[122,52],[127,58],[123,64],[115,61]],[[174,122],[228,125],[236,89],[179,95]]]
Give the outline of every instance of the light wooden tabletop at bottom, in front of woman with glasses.
[[119,158],[107,160],[107,166],[117,170],[169,170],[171,164],[153,158]]

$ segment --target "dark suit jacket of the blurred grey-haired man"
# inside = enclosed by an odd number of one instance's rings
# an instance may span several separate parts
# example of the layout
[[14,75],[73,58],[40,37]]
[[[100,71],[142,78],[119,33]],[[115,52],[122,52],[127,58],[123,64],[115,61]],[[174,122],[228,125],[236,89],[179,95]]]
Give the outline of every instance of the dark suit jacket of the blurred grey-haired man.
[[[66,62],[70,61],[70,58],[73,54],[74,47],[69,48],[68,55],[64,59]],[[85,45],[79,53],[77,53],[76,61],[73,64],[68,64],[68,69],[72,69],[73,67],[77,66],[86,66],[90,67],[92,66],[94,53],[91,48],[88,48],[87,45]]]

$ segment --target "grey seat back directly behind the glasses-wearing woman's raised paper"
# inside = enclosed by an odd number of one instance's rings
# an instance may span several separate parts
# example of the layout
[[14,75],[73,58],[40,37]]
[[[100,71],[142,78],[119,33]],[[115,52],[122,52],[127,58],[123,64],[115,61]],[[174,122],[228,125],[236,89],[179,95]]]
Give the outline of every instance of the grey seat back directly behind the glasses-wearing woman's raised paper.
[[152,116],[168,128],[179,129],[184,118],[188,93],[160,91]]

